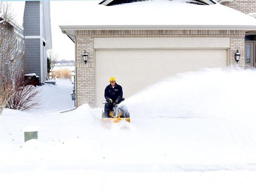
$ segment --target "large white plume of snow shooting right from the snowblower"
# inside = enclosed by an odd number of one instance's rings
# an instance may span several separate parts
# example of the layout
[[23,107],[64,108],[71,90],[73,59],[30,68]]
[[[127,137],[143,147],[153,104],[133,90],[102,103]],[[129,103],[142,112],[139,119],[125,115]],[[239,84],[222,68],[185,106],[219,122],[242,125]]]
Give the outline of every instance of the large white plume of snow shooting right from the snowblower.
[[132,116],[252,118],[256,70],[205,68],[153,84],[123,102]]

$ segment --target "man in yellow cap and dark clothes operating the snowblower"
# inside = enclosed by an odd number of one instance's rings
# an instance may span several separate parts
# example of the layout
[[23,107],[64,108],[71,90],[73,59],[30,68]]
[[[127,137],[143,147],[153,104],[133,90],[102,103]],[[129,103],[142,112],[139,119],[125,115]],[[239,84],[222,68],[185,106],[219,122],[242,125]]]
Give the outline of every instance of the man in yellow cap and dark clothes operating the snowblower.
[[123,90],[120,85],[116,83],[116,78],[110,77],[110,84],[105,88],[105,117],[109,118],[109,111],[113,109],[113,107],[119,104],[122,101]]

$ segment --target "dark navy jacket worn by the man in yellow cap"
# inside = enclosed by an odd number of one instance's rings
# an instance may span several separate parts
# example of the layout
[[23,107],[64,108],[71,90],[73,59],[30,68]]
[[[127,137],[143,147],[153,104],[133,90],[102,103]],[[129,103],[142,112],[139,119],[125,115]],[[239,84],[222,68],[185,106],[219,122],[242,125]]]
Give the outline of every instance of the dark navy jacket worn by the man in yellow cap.
[[113,102],[117,102],[120,103],[123,97],[123,90],[122,87],[118,84],[116,84],[114,86],[114,88],[112,88],[111,84],[109,84],[108,86],[106,86],[105,88],[105,99],[106,101],[108,101],[108,99],[112,99]]

